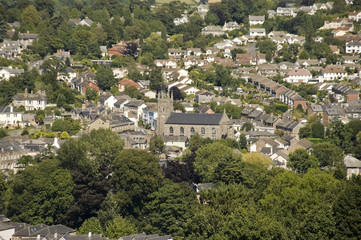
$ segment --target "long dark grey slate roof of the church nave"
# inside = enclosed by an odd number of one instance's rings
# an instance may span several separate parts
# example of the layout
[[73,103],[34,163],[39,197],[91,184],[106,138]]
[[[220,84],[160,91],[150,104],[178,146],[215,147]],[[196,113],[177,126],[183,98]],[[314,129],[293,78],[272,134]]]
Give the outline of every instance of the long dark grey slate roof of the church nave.
[[171,113],[166,124],[219,125],[223,114]]

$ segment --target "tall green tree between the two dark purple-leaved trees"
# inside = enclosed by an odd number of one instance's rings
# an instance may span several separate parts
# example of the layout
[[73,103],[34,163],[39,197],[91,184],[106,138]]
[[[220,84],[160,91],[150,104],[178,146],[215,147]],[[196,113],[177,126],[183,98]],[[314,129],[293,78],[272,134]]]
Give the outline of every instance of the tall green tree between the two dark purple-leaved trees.
[[144,150],[126,149],[115,159],[113,189],[124,214],[139,214],[147,195],[162,182],[158,159]]

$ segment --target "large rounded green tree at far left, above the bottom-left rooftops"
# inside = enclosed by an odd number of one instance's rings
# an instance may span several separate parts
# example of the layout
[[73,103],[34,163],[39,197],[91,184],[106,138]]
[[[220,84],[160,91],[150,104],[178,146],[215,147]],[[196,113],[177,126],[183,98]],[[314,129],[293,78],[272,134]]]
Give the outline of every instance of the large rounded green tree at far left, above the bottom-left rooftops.
[[61,223],[72,206],[74,182],[68,170],[51,159],[15,175],[7,216],[30,224]]

